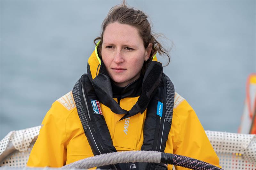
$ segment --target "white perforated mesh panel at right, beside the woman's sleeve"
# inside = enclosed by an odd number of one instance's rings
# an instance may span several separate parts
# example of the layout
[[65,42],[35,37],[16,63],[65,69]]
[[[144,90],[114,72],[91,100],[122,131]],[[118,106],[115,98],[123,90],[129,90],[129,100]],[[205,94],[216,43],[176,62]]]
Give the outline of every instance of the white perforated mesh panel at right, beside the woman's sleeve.
[[256,170],[256,135],[205,132],[223,169]]

